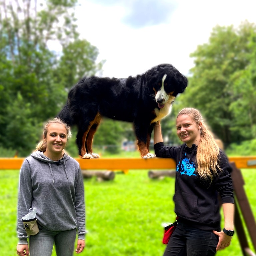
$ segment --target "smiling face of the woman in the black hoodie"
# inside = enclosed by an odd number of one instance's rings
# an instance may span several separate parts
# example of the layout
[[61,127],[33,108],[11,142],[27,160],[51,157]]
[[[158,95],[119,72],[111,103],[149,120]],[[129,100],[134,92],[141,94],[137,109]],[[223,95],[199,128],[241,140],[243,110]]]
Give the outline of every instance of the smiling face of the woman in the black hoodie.
[[196,123],[189,115],[179,115],[176,119],[177,135],[181,141],[192,147],[200,141],[200,129],[202,123]]

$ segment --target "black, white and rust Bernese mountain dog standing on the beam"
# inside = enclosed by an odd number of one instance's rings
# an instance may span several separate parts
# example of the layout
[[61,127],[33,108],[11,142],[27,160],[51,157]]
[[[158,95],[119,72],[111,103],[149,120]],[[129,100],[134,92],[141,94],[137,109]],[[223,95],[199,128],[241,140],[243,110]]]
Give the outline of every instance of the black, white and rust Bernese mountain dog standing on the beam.
[[68,93],[57,117],[77,125],[76,143],[81,158],[98,158],[92,141],[102,117],[132,122],[141,157],[151,158],[149,143],[153,125],[171,112],[187,78],[171,64],[160,64],[142,75],[128,78],[88,77]]

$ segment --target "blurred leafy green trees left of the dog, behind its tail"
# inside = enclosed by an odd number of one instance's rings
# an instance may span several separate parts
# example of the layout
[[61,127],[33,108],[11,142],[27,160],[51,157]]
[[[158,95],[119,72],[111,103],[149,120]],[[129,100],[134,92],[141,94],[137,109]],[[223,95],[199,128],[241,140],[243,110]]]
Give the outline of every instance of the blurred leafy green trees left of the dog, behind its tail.
[[[97,48],[79,39],[76,5],[77,0],[0,1],[0,147],[27,155],[78,77],[101,69]],[[51,42],[58,42],[59,51],[49,48]]]

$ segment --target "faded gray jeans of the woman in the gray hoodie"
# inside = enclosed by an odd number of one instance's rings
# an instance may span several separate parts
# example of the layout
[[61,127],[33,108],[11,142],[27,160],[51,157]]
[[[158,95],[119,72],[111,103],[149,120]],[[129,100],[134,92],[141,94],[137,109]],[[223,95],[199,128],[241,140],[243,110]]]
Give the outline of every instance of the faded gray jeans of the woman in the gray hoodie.
[[50,231],[45,228],[29,237],[30,256],[51,256],[53,244],[57,256],[73,256],[76,240],[76,228],[67,231]]

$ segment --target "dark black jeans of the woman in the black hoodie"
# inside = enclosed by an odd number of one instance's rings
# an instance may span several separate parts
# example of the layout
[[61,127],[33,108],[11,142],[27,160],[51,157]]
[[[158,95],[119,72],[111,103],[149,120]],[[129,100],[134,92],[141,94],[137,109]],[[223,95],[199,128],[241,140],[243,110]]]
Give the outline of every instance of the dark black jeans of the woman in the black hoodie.
[[212,231],[178,222],[164,252],[164,256],[213,256],[219,236]]

